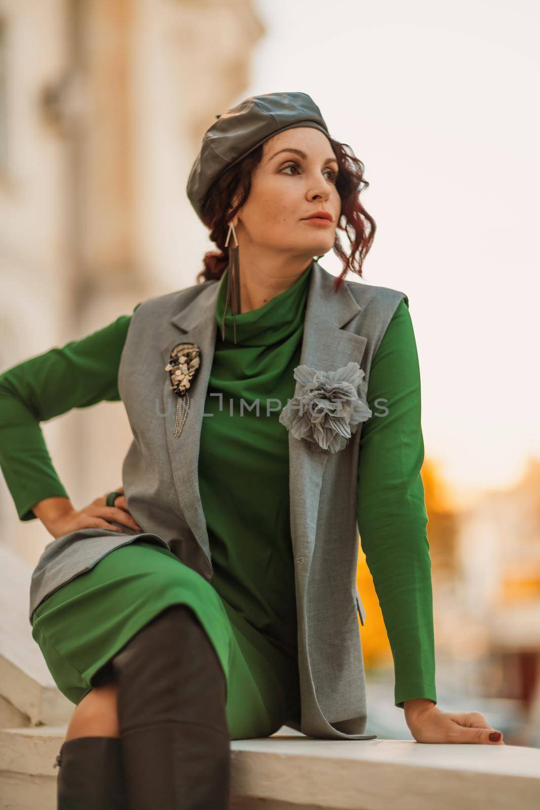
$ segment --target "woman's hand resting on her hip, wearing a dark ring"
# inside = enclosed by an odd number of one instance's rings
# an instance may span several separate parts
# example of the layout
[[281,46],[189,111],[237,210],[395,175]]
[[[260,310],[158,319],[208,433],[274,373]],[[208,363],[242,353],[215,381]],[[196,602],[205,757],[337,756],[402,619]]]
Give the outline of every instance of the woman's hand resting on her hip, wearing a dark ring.
[[114,506],[106,505],[107,494],[96,498],[83,509],[75,509],[69,498],[51,497],[39,501],[32,507],[32,511],[55,539],[78,529],[112,529],[121,532],[121,528],[108,522],[111,520],[134,531],[142,531],[128,511],[124,488],[118,487],[117,492],[122,494],[117,497]]

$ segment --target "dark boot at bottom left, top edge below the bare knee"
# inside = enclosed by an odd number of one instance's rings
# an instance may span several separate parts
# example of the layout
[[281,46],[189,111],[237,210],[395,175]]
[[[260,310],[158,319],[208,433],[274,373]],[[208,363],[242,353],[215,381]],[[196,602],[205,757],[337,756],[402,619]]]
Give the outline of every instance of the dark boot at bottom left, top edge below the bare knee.
[[118,737],[74,737],[62,743],[57,810],[128,810]]

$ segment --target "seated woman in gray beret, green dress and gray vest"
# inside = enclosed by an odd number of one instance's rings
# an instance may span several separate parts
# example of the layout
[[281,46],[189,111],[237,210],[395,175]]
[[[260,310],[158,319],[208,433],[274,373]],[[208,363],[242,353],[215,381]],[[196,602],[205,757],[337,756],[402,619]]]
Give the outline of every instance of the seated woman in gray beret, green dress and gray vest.
[[[304,93],[217,116],[187,186],[220,249],[203,283],[0,377],[2,471],[19,517],[55,538],[30,620],[77,704],[60,807],[227,807],[231,739],[283,723],[375,739],[358,534],[415,740],[492,741],[481,714],[436,707],[408,300],[343,281],[375,232],[363,168]],[[313,259],[331,248],[337,281]],[[75,509],[39,423],[119,399],[125,494]]]

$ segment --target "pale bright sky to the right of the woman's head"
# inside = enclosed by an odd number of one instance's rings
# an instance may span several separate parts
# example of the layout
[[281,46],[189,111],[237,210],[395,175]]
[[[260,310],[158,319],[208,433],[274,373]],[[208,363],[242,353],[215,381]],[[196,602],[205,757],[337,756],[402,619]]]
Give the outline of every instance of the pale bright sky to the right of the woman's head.
[[307,92],[364,162],[364,281],[409,296],[426,454],[457,492],[511,485],[540,455],[538,2],[256,6],[267,35],[231,106]]

